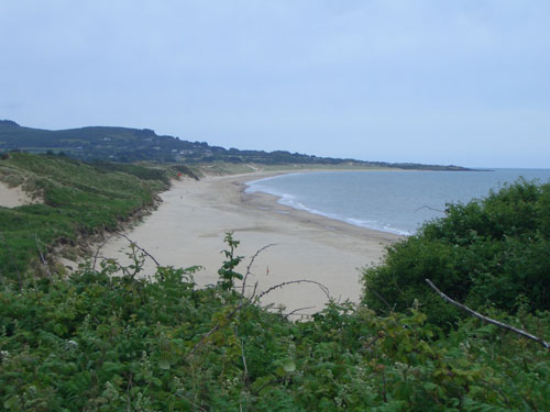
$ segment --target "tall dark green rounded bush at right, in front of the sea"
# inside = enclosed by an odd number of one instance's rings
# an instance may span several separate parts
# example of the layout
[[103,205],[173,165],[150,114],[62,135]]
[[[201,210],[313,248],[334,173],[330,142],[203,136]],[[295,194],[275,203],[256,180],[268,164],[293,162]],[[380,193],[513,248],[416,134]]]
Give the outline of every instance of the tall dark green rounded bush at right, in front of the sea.
[[387,250],[383,265],[364,270],[364,302],[377,313],[420,302],[429,322],[452,324],[458,310],[425,282],[473,309],[513,313],[550,309],[550,183],[519,180],[468,204]]

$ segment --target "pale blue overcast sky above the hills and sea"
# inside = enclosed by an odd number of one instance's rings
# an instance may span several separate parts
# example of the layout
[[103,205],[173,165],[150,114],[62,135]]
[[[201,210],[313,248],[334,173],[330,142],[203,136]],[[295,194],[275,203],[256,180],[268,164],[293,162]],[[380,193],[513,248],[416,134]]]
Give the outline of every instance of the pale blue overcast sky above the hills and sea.
[[0,0],[0,119],[550,167],[548,0]]

